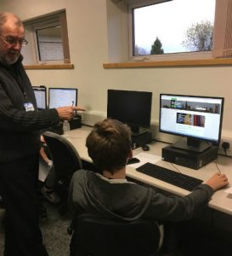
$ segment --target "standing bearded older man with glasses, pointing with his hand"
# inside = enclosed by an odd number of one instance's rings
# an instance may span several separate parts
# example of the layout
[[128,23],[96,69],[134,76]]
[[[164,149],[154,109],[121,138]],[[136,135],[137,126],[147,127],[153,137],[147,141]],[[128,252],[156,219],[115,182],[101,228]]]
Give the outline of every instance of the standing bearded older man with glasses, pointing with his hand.
[[71,119],[77,107],[37,111],[20,50],[21,20],[0,13],[0,194],[6,207],[5,256],[48,255],[38,226],[39,130]]

